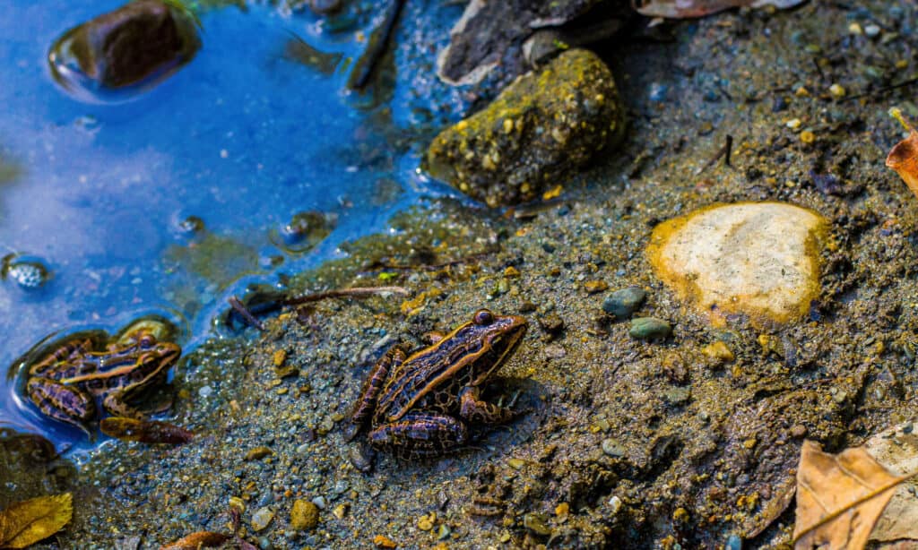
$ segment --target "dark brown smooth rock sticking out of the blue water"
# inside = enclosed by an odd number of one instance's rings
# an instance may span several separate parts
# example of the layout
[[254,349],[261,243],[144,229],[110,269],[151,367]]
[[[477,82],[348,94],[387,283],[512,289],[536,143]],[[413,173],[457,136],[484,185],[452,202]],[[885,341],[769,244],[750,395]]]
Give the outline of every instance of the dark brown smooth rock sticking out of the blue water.
[[152,87],[200,48],[196,21],[176,2],[136,0],[72,28],[48,54],[55,80],[74,93]]

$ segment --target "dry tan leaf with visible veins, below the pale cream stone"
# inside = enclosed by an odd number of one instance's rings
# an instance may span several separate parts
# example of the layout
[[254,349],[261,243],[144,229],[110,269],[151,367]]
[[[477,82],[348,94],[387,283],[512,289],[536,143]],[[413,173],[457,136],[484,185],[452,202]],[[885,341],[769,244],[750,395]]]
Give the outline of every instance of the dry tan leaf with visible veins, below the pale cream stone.
[[906,477],[891,474],[861,447],[838,455],[803,442],[797,472],[795,548],[857,550]]

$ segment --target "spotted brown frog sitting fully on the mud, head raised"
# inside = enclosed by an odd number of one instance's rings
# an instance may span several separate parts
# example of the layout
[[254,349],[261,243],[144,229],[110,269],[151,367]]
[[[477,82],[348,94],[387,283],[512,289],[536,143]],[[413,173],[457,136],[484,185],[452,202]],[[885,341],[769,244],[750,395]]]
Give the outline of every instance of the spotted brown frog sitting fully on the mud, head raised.
[[478,310],[430,346],[408,355],[396,346],[376,362],[351,416],[352,432],[369,427],[370,444],[400,457],[432,457],[465,445],[469,424],[511,420],[508,408],[480,393],[513,355],[528,324]]

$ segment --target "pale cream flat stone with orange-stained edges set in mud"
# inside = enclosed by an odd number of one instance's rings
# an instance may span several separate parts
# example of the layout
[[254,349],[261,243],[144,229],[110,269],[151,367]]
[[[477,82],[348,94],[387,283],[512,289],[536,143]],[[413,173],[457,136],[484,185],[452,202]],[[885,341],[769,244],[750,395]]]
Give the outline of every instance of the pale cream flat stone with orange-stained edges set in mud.
[[720,204],[657,225],[656,275],[722,325],[727,314],[786,323],[819,294],[823,216],[786,203]]

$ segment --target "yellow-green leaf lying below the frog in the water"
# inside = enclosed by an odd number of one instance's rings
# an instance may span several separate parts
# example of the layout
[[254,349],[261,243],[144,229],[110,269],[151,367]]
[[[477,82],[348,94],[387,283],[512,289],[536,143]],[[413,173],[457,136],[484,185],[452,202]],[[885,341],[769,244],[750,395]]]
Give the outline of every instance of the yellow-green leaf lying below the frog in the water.
[[25,548],[61,531],[73,518],[73,495],[17,502],[0,512],[0,548]]

